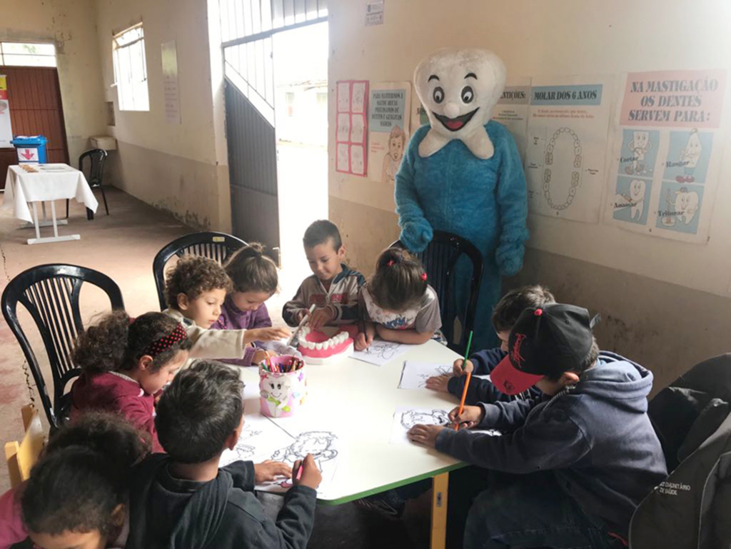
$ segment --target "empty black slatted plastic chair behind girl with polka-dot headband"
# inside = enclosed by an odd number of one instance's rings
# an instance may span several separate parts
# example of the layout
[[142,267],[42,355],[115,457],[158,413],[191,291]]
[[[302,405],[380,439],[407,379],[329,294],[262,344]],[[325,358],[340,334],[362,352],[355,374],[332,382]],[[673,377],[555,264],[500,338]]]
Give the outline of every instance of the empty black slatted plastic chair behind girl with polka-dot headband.
[[[71,398],[66,387],[80,374],[70,355],[75,339],[84,330],[79,293],[85,282],[104,290],[113,309],[124,309],[122,293],[115,281],[104,273],[77,265],[30,268],[12,279],[2,293],[2,314],[23,349],[52,429],[60,427],[68,417]],[[18,321],[18,303],[31,314],[43,339],[53,374],[53,402],[26,331]]]

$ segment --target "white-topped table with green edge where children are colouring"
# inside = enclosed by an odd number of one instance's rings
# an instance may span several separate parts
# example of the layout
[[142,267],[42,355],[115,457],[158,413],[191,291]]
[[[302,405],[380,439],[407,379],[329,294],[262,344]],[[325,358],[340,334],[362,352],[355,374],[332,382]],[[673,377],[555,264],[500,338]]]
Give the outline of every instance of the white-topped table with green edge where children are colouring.
[[[455,352],[436,341],[414,345],[384,366],[346,358],[332,365],[307,365],[307,400],[296,417],[273,419],[289,431],[321,428],[338,433],[343,453],[323,504],[339,505],[390,488],[433,478],[431,548],[444,548],[449,472],[465,466],[449,455],[416,444],[389,444],[396,406],[452,409],[447,393],[398,389],[404,360],[452,364]],[[259,374],[242,368],[246,383],[246,415],[260,409]]]

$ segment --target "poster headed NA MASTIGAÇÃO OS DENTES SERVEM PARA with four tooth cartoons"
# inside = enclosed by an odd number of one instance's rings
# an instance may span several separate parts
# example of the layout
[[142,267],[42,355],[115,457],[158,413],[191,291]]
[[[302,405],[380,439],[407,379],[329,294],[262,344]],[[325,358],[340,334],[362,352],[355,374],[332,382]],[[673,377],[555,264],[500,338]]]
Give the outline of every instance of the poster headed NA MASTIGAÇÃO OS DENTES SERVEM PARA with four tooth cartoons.
[[627,230],[705,242],[720,162],[723,70],[626,75],[605,219]]

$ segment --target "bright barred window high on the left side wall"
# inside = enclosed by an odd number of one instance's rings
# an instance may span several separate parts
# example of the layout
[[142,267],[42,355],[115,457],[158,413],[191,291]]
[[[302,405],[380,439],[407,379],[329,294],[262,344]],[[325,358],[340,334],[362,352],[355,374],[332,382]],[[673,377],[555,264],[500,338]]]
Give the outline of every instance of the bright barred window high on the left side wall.
[[115,34],[112,52],[119,110],[150,110],[142,23]]

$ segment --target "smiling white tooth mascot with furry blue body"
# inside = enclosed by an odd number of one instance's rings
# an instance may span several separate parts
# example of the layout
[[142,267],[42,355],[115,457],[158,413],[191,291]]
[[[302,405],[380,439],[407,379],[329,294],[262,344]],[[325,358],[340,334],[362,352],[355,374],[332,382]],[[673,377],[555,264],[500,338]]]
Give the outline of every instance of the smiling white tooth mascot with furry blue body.
[[[501,276],[518,273],[528,239],[526,177],[510,132],[491,121],[505,66],[487,50],[444,49],[425,58],[414,86],[429,124],[414,132],[395,180],[401,241],[423,251],[433,230],[452,232],[482,253],[473,349],[496,344],[491,314]],[[456,268],[457,303],[469,292],[469,262]]]

